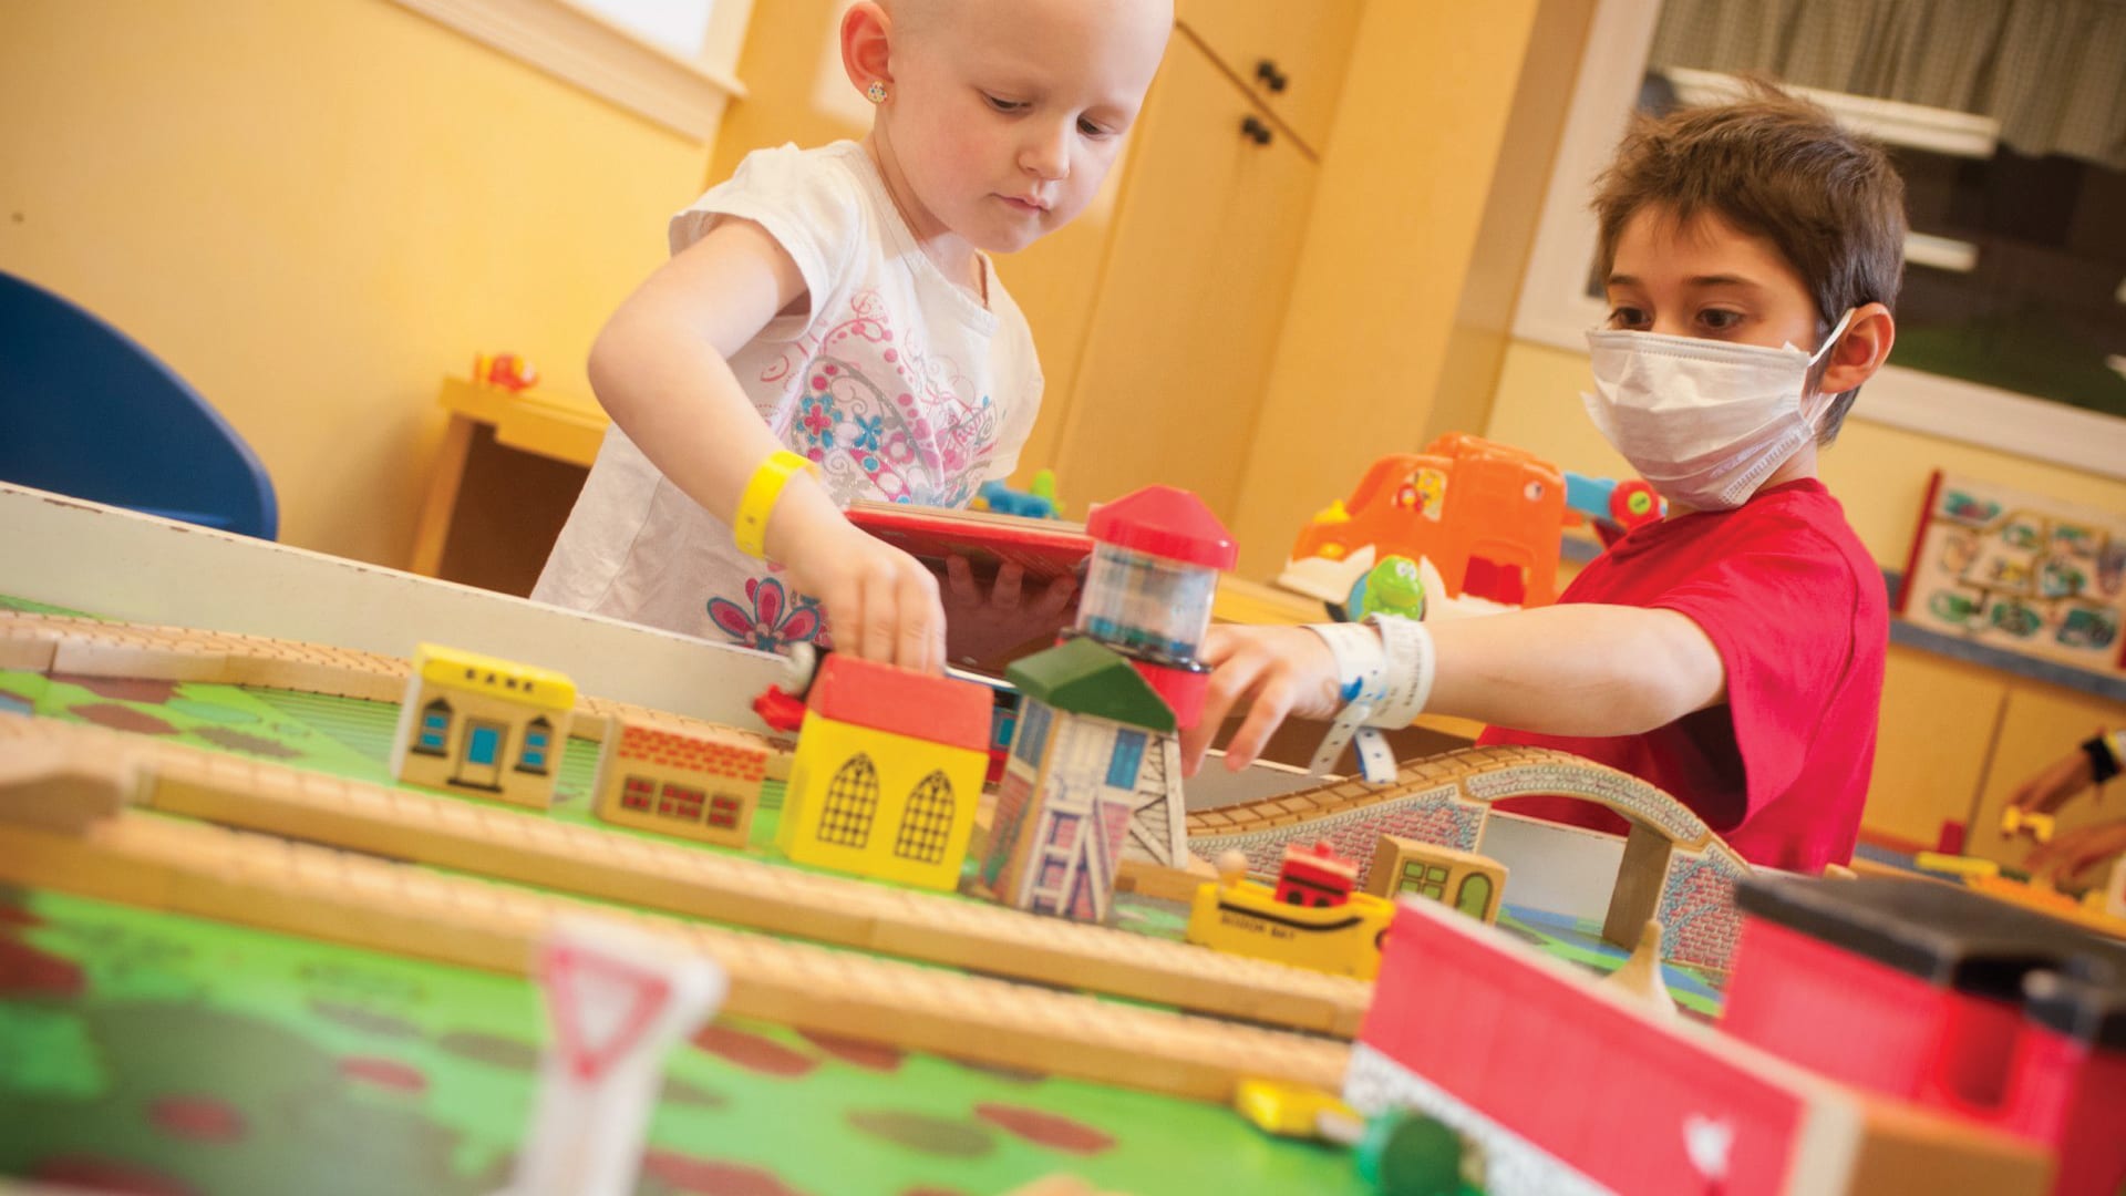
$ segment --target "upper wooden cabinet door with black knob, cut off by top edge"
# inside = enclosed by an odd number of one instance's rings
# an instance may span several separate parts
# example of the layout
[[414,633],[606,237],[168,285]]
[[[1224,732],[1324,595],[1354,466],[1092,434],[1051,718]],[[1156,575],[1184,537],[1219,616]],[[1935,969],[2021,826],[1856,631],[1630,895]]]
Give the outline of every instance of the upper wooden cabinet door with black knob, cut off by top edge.
[[1180,0],[1176,19],[1310,149],[1322,149],[1359,0]]

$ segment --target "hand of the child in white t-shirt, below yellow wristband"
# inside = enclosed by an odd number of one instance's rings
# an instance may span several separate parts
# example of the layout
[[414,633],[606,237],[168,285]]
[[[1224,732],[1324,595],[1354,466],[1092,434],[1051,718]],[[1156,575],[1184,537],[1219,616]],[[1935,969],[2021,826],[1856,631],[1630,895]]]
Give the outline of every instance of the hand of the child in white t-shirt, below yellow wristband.
[[944,672],[938,579],[901,549],[859,532],[816,485],[791,485],[767,517],[770,555],[819,598],[836,651]]

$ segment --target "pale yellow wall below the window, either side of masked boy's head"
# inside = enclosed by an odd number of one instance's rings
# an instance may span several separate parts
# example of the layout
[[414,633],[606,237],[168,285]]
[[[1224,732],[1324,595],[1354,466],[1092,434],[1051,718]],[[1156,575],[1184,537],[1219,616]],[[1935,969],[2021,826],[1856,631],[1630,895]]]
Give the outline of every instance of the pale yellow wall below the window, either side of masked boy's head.
[[[1516,340],[1505,353],[1486,436],[1546,455],[1594,477],[1631,477],[1624,458],[1603,443],[1580,406],[1588,387],[1586,353]],[[1824,485],[1845,504],[1860,543],[1890,568],[1905,568],[1926,500],[1926,479],[1941,468],[2030,489],[2100,511],[2126,511],[2126,483],[2018,458],[1960,441],[1869,423],[1867,389],[1837,445],[1822,458]]]

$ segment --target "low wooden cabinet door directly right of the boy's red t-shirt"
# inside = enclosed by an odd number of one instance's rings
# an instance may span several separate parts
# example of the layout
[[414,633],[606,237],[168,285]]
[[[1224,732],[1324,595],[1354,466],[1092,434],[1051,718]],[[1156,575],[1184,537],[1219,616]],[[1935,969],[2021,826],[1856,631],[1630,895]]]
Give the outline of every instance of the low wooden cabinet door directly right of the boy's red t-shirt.
[[2003,702],[2003,675],[1890,645],[1862,834],[1933,849],[1943,821],[1967,821]]

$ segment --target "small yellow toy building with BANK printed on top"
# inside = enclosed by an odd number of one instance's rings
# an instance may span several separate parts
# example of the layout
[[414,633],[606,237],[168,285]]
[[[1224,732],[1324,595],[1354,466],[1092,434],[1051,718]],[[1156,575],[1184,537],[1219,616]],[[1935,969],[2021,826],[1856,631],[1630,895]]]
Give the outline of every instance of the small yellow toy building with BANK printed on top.
[[559,672],[421,645],[391,738],[391,775],[546,809],[574,709],[576,683]]

